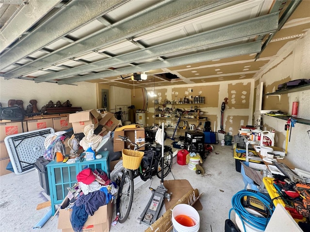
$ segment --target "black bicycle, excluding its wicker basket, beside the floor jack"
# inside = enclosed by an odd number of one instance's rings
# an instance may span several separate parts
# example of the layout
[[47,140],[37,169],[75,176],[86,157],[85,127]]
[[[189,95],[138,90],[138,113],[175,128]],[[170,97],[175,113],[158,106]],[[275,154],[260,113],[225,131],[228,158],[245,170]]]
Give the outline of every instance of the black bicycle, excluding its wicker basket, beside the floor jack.
[[[136,143],[132,142],[128,137],[125,136],[120,136],[120,140],[129,143],[128,148],[130,149],[132,146],[134,147],[134,151],[137,151],[141,147],[144,146],[150,146],[150,143],[145,143],[143,145],[137,145]],[[169,172],[171,171],[171,166],[172,166],[172,150],[170,146],[164,146],[164,174],[163,177],[167,176]],[[152,149],[152,147],[151,147]],[[156,154],[159,152],[159,147],[153,147],[155,149]],[[149,170],[142,170],[141,165],[139,167],[139,174],[142,176],[142,180],[146,181],[148,178],[152,178],[152,173],[154,174],[154,169],[152,169],[152,166],[156,164],[156,172],[155,174],[157,175],[158,178],[161,178],[161,169],[162,169],[162,157],[155,158],[154,155],[152,157],[151,165]],[[156,162],[153,163],[153,160]],[[118,189],[118,195],[117,195],[117,200],[116,200],[116,212],[117,212],[117,217],[118,221],[120,223],[124,223],[126,219],[129,216],[131,206],[132,206],[132,201],[133,201],[133,193],[134,193],[134,172],[137,172],[137,170],[131,170],[131,169],[126,169],[124,168],[122,170],[122,174],[118,175],[118,182],[119,182],[119,189]]]

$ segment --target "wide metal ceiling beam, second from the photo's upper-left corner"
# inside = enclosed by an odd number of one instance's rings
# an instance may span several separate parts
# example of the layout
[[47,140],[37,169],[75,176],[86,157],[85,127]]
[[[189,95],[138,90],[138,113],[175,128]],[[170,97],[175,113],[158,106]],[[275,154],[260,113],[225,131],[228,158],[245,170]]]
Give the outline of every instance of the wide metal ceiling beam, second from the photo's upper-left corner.
[[[40,1],[47,4],[49,1]],[[46,22],[31,31],[23,40],[1,55],[1,67],[5,68],[31,53],[45,47],[64,35],[78,29],[102,14],[105,14],[124,0],[72,0],[66,7],[53,14]],[[26,8],[26,7],[24,7]],[[40,12],[40,8],[35,11]],[[83,14],[81,14],[83,13]],[[16,18],[17,20],[17,18]],[[12,25],[15,27],[16,25]],[[27,66],[27,65],[26,65]]]

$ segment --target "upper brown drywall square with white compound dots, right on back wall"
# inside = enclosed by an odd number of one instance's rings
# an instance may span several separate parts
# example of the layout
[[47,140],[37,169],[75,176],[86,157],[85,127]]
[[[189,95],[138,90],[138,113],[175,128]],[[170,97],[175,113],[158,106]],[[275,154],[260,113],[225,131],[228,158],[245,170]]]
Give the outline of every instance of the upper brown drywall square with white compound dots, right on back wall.
[[248,109],[250,101],[251,83],[228,84],[229,108]]

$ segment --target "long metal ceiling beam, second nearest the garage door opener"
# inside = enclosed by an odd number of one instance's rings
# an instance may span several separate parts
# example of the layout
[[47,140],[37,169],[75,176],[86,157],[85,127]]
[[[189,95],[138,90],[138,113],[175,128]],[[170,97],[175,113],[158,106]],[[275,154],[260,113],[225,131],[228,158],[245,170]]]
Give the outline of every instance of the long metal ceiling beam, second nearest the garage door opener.
[[198,49],[218,43],[230,42],[251,36],[267,34],[278,29],[279,12],[252,18],[240,23],[234,23],[218,29],[205,31],[196,35],[188,36],[167,43],[157,44],[139,51],[126,53],[104,60],[99,60],[88,65],[82,65],[58,73],[37,77],[36,83],[48,80],[61,80],[68,76],[79,73],[87,73],[108,67],[135,62],[143,59],[156,58],[173,54],[179,51]]

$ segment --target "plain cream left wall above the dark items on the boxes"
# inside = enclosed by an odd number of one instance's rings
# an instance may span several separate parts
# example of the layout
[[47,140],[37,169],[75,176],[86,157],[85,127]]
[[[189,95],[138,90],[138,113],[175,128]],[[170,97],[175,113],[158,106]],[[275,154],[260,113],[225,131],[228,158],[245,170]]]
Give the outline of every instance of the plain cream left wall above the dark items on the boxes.
[[37,100],[40,110],[50,100],[65,102],[69,100],[73,107],[81,106],[83,110],[96,108],[96,88],[94,83],[80,82],[75,85],[58,85],[55,83],[34,83],[30,80],[11,79],[0,77],[0,102],[7,106],[8,100],[22,100],[24,108],[31,99]]

